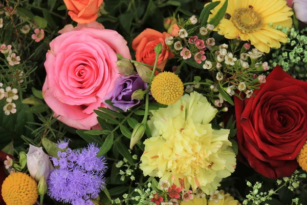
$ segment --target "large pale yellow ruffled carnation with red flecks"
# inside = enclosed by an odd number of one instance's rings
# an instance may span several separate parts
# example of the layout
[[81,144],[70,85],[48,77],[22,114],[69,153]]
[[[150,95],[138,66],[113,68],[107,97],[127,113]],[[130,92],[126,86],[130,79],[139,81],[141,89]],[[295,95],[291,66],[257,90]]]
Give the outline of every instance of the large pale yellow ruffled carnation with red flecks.
[[236,159],[229,130],[213,130],[217,110],[197,92],[176,104],[152,111],[151,136],[141,157],[144,175],[160,177],[188,190],[215,191],[234,172]]

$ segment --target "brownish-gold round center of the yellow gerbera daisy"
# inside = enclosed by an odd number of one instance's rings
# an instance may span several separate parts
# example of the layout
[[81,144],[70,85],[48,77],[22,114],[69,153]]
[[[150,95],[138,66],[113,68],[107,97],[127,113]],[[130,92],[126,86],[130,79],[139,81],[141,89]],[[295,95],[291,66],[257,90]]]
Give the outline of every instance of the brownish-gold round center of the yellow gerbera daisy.
[[264,27],[264,19],[252,8],[237,9],[231,21],[238,30],[244,33],[257,32]]

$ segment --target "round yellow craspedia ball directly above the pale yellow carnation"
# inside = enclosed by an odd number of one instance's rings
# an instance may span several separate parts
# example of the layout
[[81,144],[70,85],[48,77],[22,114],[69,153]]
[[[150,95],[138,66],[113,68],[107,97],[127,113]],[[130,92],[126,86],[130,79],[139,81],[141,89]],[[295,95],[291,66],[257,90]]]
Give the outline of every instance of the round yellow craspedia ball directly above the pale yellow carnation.
[[158,103],[172,105],[183,95],[183,83],[178,75],[162,72],[152,79],[150,91]]

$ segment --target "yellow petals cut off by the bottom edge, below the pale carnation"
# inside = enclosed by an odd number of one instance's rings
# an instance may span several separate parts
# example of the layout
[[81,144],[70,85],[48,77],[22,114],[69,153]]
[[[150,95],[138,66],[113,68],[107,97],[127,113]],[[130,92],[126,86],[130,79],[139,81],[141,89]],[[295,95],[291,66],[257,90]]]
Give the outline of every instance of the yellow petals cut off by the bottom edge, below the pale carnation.
[[238,200],[234,200],[234,198],[230,194],[225,194],[224,190],[215,191],[211,194],[209,202],[207,203],[206,197],[197,197],[194,196],[192,200],[182,201],[180,205],[240,205]]

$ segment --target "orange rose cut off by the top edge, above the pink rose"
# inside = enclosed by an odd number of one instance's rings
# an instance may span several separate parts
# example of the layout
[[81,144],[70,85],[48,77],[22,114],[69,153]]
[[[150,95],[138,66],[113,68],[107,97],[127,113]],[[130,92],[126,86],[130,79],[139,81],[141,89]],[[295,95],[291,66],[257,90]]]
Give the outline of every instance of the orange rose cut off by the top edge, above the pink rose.
[[103,0],[64,0],[70,17],[79,24],[92,23]]

